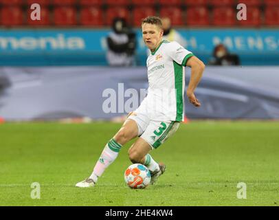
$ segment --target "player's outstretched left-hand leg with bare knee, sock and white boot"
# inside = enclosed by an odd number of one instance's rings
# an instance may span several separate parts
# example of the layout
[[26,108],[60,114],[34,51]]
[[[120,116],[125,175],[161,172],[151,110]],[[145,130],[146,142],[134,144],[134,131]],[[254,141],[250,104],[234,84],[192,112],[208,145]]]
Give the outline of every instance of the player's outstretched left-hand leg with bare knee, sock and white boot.
[[85,179],[85,181],[81,181],[76,186],[78,187],[90,187],[94,186],[98,181],[98,177],[100,177],[104,170],[112,164],[116,157],[118,157],[118,153],[120,152],[120,148],[126,142],[129,142],[133,138],[138,135],[138,126],[135,120],[127,119],[118,133],[116,133],[113,138],[104,146],[104,150],[98,159],[95,167],[93,168],[93,173],[89,178]]

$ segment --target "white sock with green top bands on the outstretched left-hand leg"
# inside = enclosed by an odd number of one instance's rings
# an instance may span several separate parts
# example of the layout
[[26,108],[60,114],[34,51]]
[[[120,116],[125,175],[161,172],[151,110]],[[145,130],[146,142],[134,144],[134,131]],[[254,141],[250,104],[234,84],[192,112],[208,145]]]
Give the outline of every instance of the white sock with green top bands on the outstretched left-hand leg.
[[100,177],[104,173],[104,170],[115,161],[116,157],[118,157],[121,147],[121,144],[118,144],[114,139],[111,139],[104,147],[104,150],[93,169],[93,173],[89,178],[93,179],[96,183],[98,177]]

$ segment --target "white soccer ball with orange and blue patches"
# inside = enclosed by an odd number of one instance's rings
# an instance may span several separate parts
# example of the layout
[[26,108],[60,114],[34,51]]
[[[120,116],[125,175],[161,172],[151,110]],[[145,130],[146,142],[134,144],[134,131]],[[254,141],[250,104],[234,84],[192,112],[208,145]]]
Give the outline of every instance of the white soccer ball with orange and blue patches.
[[146,166],[132,164],[126,169],[124,179],[130,188],[146,188],[150,184],[151,175]]

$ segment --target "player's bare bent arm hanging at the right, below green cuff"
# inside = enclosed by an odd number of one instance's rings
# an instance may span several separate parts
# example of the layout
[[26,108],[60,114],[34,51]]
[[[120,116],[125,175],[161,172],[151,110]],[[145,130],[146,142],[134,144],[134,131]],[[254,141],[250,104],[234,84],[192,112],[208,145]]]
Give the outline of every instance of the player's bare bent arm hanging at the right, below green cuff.
[[194,96],[194,89],[197,88],[197,85],[201,80],[201,76],[203,76],[205,65],[196,56],[191,56],[190,58],[188,58],[186,66],[191,67],[190,82],[186,94],[189,101],[194,104],[195,107],[200,107],[201,103],[199,102],[199,100],[197,100],[196,96]]

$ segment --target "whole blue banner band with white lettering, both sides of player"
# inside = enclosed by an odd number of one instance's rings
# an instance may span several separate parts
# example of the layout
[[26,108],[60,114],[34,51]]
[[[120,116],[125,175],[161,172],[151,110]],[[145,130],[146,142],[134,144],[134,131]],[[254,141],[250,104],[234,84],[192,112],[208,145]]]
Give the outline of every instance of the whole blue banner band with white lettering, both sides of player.
[[[107,65],[110,30],[0,30],[0,65]],[[137,65],[146,63],[146,47],[137,32]],[[179,29],[186,47],[208,63],[223,43],[242,65],[279,65],[279,30]]]

